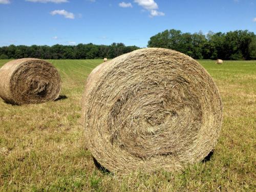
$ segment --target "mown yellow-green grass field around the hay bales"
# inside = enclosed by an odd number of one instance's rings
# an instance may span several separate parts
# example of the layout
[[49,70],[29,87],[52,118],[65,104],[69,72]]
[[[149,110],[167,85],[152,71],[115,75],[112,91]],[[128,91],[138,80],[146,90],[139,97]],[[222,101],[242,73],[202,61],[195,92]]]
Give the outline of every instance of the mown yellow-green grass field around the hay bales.
[[[0,67],[7,61],[0,60]],[[84,144],[80,100],[88,74],[102,60],[49,61],[60,72],[63,99],[23,106],[0,99],[0,191],[256,190],[256,61],[199,60],[224,105],[210,161],[180,173],[123,178],[98,170]]]

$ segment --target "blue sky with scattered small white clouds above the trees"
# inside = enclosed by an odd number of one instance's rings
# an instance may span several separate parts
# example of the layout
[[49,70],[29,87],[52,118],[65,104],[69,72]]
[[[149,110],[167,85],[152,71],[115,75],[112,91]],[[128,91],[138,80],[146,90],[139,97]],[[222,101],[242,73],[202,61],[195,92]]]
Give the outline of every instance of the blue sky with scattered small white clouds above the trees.
[[256,0],[0,0],[0,46],[146,47],[165,29],[256,33]]

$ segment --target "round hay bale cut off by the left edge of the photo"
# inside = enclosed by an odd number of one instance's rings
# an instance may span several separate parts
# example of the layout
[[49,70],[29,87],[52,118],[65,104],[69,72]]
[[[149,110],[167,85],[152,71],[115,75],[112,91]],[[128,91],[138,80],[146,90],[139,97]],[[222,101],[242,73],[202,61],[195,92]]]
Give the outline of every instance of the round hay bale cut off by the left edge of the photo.
[[41,59],[9,61],[0,69],[0,78],[0,97],[12,104],[53,101],[61,90],[58,71]]

